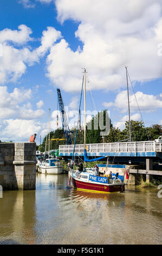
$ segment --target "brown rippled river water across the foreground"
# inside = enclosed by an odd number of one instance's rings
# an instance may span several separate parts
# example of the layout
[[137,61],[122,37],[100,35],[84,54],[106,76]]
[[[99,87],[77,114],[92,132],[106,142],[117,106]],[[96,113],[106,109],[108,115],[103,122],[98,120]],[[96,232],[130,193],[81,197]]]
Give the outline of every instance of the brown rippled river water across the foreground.
[[67,174],[37,173],[36,191],[4,191],[0,244],[162,244],[156,188],[125,193],[77,191]]

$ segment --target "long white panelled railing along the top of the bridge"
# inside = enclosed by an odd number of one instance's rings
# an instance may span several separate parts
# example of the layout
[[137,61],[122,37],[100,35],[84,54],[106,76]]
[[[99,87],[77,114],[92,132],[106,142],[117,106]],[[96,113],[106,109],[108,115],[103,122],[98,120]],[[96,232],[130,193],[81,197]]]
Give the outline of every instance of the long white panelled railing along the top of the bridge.
[[[154,141],[86,144],[89,153],[162,152],[162,143]],[[74,145],[60,145],[59,153],[73,153]],[[83,144],[75,145],[75,153],[84,151]]]

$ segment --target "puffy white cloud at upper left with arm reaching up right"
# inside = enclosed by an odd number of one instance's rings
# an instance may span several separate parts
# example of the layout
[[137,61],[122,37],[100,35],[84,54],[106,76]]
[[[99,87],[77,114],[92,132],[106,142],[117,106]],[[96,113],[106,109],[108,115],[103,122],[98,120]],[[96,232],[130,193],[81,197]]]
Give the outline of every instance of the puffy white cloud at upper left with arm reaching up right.
[[[18,31],[4,29],[0,31],[0,42],[3,54],[0,56],[0,84],[16,82],[27,70],[27,65],[32,66],[40,61],[56,40],[61,38],[61,32],[53,27],[48,27],[42,32],[41,45],[30,50],[27,44],[33,40],[30,38],[31,29],[20,25]],[[12,43],[12,44],[11,44]],[[21,45],[16,48],[15,44]]]

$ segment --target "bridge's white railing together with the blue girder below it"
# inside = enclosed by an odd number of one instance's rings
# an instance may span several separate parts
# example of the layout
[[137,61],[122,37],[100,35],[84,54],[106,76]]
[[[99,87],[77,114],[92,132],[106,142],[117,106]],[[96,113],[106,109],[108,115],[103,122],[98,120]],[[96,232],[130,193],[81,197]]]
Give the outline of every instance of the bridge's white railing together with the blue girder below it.
[[[162,143],[154,141],[86,144],[88,156],[139,156],[162,158]],[[60,145],[60,156],[72,156],[74,145]],[[75,145],[75,154],[83,156],[84,145]]]

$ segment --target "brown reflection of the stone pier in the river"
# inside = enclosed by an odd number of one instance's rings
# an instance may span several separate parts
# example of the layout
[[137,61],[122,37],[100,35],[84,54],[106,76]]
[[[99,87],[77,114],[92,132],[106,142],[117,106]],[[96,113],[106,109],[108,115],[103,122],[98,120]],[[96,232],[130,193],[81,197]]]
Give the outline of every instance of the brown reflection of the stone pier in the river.
[[0,206],[0,242],[34,243],[35,191],[6,191]]

